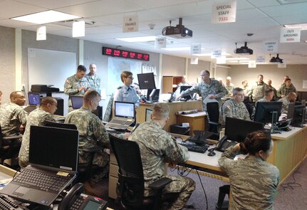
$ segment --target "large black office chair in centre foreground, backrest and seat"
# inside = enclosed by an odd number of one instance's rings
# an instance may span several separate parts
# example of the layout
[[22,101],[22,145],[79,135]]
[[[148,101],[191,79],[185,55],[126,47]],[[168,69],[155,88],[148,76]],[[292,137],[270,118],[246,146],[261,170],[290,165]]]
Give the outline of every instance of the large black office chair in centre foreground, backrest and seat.
[[163,177],[150,184],[155,196],[144,197],[144,175],[140,147],[137,142],[122,140],[109,134],[111,147],[118,162],[118,184],[116,192],[125,209],[161,209],[162,201],[171,201],[178,194],[162,196],[162,189],[172,182]]

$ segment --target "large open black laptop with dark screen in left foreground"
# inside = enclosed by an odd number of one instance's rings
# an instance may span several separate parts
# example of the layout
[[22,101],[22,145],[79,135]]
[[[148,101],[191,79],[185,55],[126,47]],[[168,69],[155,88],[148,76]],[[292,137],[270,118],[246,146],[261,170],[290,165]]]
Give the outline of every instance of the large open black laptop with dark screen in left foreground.
[[79,135],[77,130],[58,127],[30,129],[29,165],[0,193],[49,206],[76,178]]

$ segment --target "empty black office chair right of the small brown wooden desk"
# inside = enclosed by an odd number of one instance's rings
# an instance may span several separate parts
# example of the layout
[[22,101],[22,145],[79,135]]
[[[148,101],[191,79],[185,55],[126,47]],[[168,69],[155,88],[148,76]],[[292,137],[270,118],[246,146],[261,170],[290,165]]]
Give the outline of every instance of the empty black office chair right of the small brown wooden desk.
[[207,103],[209,132],[219,132],[219,103]]

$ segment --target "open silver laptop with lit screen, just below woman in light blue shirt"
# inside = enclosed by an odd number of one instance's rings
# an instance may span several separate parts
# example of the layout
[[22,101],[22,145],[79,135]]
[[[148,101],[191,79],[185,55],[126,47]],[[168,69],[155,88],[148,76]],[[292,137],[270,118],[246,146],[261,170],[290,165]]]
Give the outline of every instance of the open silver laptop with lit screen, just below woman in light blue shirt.
[[115,101],[115,117],[105,127],[115,130],[125,130],[135,122],[135,103]]

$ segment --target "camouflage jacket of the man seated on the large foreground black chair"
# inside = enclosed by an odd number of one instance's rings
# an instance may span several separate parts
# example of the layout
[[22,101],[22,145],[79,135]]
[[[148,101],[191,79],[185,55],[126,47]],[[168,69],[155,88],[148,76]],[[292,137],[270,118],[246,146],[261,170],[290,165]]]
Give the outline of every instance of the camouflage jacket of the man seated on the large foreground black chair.
[[129,140],[137,142],[140,147],[142,166],[144,170],[145,191],[144,195],[150,194],[148,185],[157,179],[164,177],[166,162],[185,162],[189,159],[187,148],[177,144],[161,125],[154,120],[144,122]]

